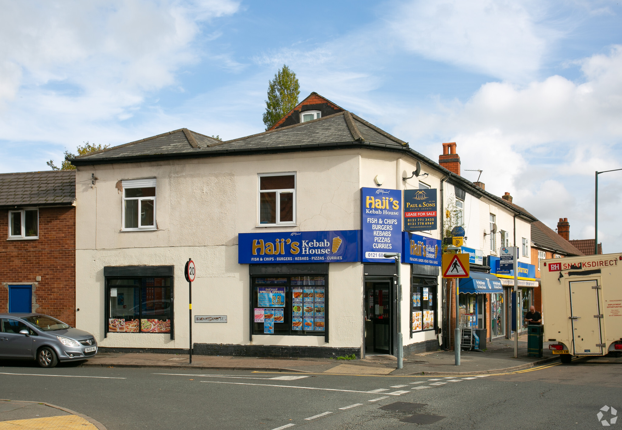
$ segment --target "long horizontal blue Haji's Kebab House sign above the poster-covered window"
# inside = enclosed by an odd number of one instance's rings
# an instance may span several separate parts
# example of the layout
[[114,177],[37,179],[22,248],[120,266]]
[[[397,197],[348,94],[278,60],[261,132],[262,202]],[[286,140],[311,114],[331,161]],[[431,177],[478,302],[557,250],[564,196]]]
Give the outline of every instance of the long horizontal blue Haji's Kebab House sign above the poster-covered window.
[[239,233],[238,263],[361,261],[360,230]]

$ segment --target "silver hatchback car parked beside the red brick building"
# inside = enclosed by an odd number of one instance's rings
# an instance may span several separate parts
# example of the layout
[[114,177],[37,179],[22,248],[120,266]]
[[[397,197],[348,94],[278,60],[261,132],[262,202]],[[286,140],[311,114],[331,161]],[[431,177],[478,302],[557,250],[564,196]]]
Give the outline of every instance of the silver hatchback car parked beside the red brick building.
[[97,354],[92,334],[44,314],[0,314],[0,359],[37,360],[40,367]]

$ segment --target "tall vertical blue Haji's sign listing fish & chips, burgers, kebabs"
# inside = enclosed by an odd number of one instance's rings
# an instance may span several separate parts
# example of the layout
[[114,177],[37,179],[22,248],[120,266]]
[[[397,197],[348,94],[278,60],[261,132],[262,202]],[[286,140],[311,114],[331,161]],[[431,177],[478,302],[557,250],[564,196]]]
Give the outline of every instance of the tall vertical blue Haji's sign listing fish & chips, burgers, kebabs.
[[361,188],[361,259],[389,262],[386,252],[402,250],[402,191]]

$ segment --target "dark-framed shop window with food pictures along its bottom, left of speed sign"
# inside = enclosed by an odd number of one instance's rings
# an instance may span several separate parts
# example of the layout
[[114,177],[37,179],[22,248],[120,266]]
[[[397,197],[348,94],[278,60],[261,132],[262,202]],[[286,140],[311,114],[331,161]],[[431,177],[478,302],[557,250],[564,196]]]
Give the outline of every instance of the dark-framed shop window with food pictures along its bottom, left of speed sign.
[[108,279],[107,332],[170,333],[170,277]]

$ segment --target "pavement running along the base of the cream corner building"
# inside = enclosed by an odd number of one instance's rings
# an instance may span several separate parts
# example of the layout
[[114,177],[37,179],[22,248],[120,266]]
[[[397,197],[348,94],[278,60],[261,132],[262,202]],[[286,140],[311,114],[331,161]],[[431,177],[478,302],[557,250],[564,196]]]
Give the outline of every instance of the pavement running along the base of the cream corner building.
[[503,339],[488,342],[484,352],[462,351],[461,365],[454,365],[453,351],[435,351],[411,354],[404,360],[404,368],[396,370],[397,360],[391,355],[368,355],[364,360],[334,359],[275,359],[271,357],[231,357],[193,355],[192,364],[187,354],[106,353],[100,352],[87,360],[84,367],[152,367],[196,368],[199,370],[282,370],[311,373],[341,373],[356,375],[447,375],[450,373],[496,373],[517,370],[556,360],[545,344],[542,358],[527,357],[526,338],[519,338],[519,357],[514,359],[514,343]]

